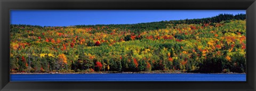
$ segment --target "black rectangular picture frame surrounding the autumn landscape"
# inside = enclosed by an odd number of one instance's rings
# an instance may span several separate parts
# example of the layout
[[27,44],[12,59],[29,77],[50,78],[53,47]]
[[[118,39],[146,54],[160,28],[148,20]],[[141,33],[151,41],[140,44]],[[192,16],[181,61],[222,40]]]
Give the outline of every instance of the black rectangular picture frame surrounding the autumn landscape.
[[[0,0],[0,90],[255,90],[255,0]],[[10,82],[10,10],[246,10],[246,82]]]

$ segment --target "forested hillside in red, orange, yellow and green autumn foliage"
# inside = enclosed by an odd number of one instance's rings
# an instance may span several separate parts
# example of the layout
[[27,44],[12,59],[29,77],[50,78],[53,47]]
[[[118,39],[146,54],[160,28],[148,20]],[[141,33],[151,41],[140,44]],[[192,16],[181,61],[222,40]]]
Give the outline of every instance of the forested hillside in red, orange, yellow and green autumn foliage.
[[139,24],[11,25],[11,72],[246,72],[245,14]]

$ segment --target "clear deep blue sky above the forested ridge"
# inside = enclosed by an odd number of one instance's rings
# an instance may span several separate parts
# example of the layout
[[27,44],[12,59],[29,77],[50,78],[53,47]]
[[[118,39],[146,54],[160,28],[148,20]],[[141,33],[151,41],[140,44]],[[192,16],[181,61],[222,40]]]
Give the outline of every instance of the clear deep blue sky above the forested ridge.
[[245,10],[12,10],[11,24],[70,26],[201,19]]

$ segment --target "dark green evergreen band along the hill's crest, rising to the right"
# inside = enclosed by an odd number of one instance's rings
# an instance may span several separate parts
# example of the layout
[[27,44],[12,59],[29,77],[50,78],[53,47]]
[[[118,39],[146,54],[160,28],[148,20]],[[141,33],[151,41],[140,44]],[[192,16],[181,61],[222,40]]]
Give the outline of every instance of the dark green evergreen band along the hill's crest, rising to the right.
[[[161,21],[161,22],[150,22],[150,23],[138,23],[138,24],[109,24],[107,26],[119,29],[121,31],[124,30],[131,30],[134,33],[138,33],[141,31],[148,31],[148,30],[158,30],[158,29],[165,29],[170,24],[204,24],[213,25],[214,23],[219,23],[221,21],[228,20],[245,20],[246,14],[219,14],[218,16],[207,17],[203,19],[186,19],[186,20],[171,20],[171,21]],[[76,25],[76,28],[98,28],[106,25]]]

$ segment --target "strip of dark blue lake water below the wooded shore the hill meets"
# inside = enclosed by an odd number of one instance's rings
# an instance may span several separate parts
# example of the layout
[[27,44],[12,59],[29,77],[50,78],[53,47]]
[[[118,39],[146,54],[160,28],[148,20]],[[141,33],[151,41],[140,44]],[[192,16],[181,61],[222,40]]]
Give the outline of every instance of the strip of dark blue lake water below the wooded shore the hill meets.
[[11,74],[10,81],[246,81],[246,74]]

